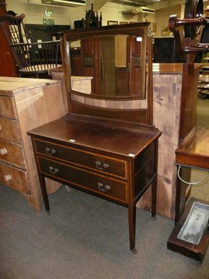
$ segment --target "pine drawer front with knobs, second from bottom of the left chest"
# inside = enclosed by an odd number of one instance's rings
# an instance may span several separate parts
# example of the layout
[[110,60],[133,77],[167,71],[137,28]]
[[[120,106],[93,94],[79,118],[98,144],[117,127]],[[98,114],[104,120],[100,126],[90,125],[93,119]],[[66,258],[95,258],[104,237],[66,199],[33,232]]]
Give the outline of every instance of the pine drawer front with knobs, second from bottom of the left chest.
[[22,146],[6,140],[0,140],[0,160],[17,167],[26,168]]

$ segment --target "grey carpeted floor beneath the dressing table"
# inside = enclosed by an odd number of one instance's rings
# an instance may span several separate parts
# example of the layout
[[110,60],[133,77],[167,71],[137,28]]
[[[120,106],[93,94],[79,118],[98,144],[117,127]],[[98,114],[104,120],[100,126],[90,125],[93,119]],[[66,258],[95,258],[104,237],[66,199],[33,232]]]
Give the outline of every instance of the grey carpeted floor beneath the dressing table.
[[125,207],[64,186],[49,202],[51,216],[36,216],[20,193],[0,185],[0,279],[209,278],[209,251],[199,264],[167,250],[173,220],[137,209],[133,255]]

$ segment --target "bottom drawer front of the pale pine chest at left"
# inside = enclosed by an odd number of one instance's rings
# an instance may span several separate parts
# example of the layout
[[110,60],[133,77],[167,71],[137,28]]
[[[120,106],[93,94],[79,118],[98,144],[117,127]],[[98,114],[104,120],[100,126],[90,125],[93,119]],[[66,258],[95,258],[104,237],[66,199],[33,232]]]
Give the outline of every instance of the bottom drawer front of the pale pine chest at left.
[[10,165],[0,164],[0,183],[21,193],[29,194],[26,172]]

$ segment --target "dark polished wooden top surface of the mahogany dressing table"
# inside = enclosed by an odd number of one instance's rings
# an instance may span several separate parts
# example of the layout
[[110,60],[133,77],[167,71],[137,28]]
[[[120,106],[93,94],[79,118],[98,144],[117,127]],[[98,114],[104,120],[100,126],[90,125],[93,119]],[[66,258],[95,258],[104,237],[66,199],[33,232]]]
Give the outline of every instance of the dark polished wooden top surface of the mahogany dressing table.
[[[98,120],[98,121],[97,121]],[[122,121],[93,119],[89,116],[67,114],[47,125],[29,132],[33,137],[41,137],[52,142],[62,142],[85,149],[134,158],[152,143],[161,132],[153,126],[132,125],[122,127]]]

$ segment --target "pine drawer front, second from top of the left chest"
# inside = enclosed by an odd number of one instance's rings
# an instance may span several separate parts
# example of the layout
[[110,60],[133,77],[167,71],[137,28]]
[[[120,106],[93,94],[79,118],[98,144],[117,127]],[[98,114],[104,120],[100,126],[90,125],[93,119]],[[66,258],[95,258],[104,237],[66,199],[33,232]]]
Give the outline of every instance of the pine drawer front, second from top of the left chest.
[[21,142],[17,120],[0,117],[0,137]]

